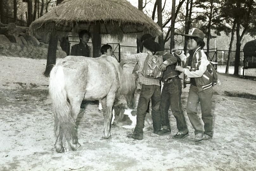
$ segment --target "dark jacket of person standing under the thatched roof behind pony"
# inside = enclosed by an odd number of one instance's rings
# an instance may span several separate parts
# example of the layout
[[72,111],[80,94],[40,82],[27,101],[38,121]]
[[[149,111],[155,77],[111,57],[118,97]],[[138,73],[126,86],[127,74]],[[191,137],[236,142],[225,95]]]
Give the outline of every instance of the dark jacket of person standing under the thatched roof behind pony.
[[91,57],[90,52],[90,47],[87,44],[84,45],[82,42],[80,42],[72,46],[70,55]]

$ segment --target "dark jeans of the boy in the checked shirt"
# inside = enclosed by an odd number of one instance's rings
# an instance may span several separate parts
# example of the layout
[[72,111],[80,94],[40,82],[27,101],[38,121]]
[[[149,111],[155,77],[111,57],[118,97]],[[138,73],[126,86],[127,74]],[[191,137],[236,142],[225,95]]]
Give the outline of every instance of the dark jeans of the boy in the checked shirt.
[[151,99],[151,115],[154,130],[161,130],[161,118],[159,106],[161,103],[161,87],[157,85],[142,85],[138,107],[137,107],[137,124],[134,129],[135,135],[143,135],[144,120],[148,103]]

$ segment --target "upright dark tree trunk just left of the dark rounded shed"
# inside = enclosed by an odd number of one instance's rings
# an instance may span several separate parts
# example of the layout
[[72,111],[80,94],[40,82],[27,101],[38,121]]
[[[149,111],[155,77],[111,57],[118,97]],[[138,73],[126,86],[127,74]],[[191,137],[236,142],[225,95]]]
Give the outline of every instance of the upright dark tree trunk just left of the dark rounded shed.
[[240,23],[236,25],[236,50],[235,50],[235,66],[234,66],[234,75],[239,75],[239,66],[240,66]]

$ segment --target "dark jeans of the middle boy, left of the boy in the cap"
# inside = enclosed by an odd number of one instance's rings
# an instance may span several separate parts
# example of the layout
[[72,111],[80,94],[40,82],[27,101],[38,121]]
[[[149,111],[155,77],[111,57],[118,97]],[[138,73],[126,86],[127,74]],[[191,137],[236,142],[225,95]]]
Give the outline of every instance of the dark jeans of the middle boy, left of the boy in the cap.
[[181,79],[174,77],[171,82],[165,82],[161,94],[161,124],[167,126],[170,130],[169,122],[169,107],[173,116],[176,118],[177,129],[179,132],[187,133],[188,127],[184,117],[184,113],[181,105],[181,93],[182,93],[182,83]]

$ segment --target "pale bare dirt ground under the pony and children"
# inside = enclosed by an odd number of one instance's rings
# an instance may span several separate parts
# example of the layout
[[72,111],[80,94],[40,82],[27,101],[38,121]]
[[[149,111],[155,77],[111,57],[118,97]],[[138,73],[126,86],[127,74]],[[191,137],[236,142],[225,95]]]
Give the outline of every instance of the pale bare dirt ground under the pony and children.
[[[0,56],[0,170],[256,170],[256,81],[219,74],[214,87],[214,137],[194,143],[186,115],[189,88],[182,103],[189,136],[144,132],[141,141],[112,126],[103,139],[103,113],[98,105],[81,106],[78,139],[81,148],[65,153],[54,149],[54,119],[48,97],[46,60]],[[136,94],[138,101],[138,93]]]

